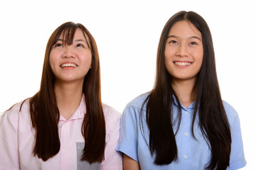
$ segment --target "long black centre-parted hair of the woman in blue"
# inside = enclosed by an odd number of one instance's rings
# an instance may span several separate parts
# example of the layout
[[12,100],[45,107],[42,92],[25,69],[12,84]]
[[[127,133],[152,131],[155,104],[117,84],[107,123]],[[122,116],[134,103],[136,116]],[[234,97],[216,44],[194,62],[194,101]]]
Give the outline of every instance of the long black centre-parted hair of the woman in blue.
[[[207,169],[226,169],[230,162],[231,134],[227,115],[220,96],[215,68],[213,40],[206,21],[193,11],[180,11],[167,21],[161,33],[156,61],[156,80],[154,89],[144,101],[146,123],[149,127],[149,149],[156,154],[154,164],[171,164],[176,161],[178,149],[173,125],[172,106],[178,101],[171,87],[172,77],[164,64],[166,40],[171,27],[178,21],[189,21],[201,32],[203,39],[203,64],[198,72],[193,91],[196,93],[195,110],[191,132],[193,137],[196,116],[199,127],[211,151]],[[142,112],[140,114],[142,120]],[[181,104],[178,102],[178,127],[181,124]]]

